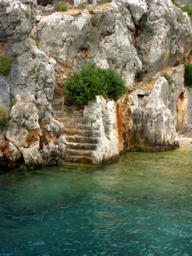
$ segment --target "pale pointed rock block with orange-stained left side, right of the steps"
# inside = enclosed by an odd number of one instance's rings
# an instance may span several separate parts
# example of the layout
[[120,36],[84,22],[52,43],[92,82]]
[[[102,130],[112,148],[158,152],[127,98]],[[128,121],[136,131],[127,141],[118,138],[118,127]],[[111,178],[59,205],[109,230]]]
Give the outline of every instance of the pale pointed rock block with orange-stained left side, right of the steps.
[[121,111],[124,108],[120,115],[124,129],[119,127],[123,130],[120,134],[122,148],[156,151],[179,146],[174,117],[166,107],[162,90],[169,90],[164,77],[158,79],[149,96],[141,96],[141,92],[135,91],[124,102],[119,101]]

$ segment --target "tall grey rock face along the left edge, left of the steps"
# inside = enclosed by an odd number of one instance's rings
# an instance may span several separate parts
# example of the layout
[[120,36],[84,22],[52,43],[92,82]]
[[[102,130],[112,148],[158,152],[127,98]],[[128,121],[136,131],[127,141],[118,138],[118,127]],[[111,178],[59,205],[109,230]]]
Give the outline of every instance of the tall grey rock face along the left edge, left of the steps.
[[36,0],[2,0],[0,7],[1,55],[16,57],[9,75],[0,75],[0,104],[11,108],[10,125],[7,131],[1,130],[4,142],[0,151],[1,160],[13,164],[26,156],[22,148],[35,148],[39,143],[39,150],[42,148],[40,122],[51,111],[55,71],[29,38],[35,23]]

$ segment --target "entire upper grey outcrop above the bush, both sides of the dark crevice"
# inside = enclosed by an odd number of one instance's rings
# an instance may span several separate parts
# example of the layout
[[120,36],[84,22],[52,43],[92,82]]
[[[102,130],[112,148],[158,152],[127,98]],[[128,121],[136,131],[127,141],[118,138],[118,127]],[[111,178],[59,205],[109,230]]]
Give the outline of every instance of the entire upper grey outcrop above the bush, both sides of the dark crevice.
[[72,69],[114,67],[129,88],[135,75],[177,64],[191,51],[191,22],[171,0],[118,0],[71,15],[53,13],[40,19],[38,36],[47,55]]

